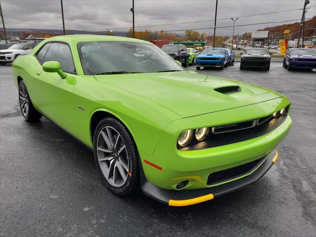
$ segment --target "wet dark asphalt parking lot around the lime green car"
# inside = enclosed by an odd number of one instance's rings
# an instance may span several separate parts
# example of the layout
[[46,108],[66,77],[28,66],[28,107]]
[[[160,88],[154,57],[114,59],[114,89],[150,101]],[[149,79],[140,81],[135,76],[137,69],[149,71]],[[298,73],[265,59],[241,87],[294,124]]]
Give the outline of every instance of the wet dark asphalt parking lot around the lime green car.
[[[195,70],[189,67],[188,70]],[[105,188],[93,155],[45,118],[24,121],[10,66],[0,66],[0,236],[315,236],[316,73],[198,73],[255,83],[292,101],[293,126],[257,183],[187,207]]]

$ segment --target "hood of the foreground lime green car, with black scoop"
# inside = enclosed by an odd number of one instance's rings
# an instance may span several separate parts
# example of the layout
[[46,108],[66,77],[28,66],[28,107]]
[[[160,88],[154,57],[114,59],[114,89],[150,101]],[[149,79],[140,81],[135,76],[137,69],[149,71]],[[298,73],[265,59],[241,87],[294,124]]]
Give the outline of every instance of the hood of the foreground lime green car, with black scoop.
[[[256,104],[282,96],[259,86],[192,71],[97,75],[95,78],[101,83],[154,101],[182,118]],[[223,93],[227,88],[236,89],[238,86],[239,92]]]

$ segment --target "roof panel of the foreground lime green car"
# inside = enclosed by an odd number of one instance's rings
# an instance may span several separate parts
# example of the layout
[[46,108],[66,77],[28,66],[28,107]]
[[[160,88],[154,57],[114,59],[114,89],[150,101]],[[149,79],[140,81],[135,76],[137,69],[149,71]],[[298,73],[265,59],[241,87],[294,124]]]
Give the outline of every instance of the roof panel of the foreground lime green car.
[[145,40],[138,40],[127,37],[118,36],[101,36],[101,35],[66,35],[66,36],[54,36],[48,38],[45,41],[63,41],[68,43],[79,43],[79,42],[92,42],[92,41],[125,41],[125,42],[140,42],[149,43],[151,42]]

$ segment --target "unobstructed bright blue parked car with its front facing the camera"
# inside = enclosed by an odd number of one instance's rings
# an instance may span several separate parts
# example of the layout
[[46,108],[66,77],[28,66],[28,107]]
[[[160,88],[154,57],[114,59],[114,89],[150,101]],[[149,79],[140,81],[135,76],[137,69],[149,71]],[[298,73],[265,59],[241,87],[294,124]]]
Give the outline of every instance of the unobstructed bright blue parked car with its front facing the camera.
[[224,48],[205,48],[197,56],[197,70],[201,67],[216,67],[224,69],[228,66],[228,52]]

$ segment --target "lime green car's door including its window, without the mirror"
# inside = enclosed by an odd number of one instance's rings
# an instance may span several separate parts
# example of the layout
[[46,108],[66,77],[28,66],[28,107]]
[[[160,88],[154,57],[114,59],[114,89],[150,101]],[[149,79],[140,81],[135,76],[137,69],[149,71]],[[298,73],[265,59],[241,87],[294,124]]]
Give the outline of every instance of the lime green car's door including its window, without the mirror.
[[77,75],[69,45],[52,42],[42,63],[48,61],[58,61],[67,77],[62,79],[57,73],[47,73],[39,67],[35,81],[37,106],[46,117],[72,133],[76,129],[73,91]]

